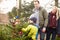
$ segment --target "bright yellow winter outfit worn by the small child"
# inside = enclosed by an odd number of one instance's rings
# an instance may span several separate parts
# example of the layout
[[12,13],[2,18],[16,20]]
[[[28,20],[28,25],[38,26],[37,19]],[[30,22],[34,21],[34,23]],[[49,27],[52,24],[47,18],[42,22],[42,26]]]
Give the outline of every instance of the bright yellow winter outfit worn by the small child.
[[23,28],[23,31],[28,31],[30,30],[28,36],[30,36],[31,34],[33,34],[31,37],[33,40],[36,40],[36,34],[38,32],[38,28],[34,25],[28,25],[27,28]]

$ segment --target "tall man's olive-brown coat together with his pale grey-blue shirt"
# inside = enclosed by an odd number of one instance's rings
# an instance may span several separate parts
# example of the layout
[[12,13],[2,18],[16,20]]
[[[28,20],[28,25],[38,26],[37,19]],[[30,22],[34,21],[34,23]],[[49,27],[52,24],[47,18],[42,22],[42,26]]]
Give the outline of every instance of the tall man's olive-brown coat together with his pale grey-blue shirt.
[[46,27],[48,24],[48,14],[47,11],[43,8],[40,7],[39,9],[33,9],[33,14],[30,16],[31,17],[36,17],[37,18],[37,24],[40,25],[40,27]]

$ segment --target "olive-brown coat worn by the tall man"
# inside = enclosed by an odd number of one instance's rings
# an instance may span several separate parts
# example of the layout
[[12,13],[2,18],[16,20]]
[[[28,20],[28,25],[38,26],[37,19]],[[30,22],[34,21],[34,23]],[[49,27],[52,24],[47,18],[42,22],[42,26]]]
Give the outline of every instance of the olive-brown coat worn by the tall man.
[[42,26],[47,27],[47,24],[48,24],[48,13],[47,13],[47,11],[44,8],[40,7],[39,12],[40,12],[40,14],[39,14],[40,27],[42,27]]

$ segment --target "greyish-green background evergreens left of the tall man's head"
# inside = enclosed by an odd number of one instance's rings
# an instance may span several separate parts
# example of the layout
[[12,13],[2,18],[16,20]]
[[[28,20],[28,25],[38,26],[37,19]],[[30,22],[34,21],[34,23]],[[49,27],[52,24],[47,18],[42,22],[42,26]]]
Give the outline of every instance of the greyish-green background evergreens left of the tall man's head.
[[[28,4],[28,5],[26,5]],[[15,16],[19,16],[20,18],[23,18],[23,17],[29,17],[30,14],[32,13],[32,9],[33,9],[33,2],[31,3],[26,3],[25,5],[21,5],[21,8],[20,9],[17,9],[17,8],[13,8],[12,9],[12,12],[9,12],[8,15],[9,15],[9,18],[13,18]]]

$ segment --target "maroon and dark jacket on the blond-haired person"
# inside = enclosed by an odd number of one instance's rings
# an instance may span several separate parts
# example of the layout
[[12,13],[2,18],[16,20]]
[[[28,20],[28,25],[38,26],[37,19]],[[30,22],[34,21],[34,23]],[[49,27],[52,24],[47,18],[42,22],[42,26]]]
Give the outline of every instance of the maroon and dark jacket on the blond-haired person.
[[56,14],[52,14],[52,12],[48,15],[48,27],[57,27]]

